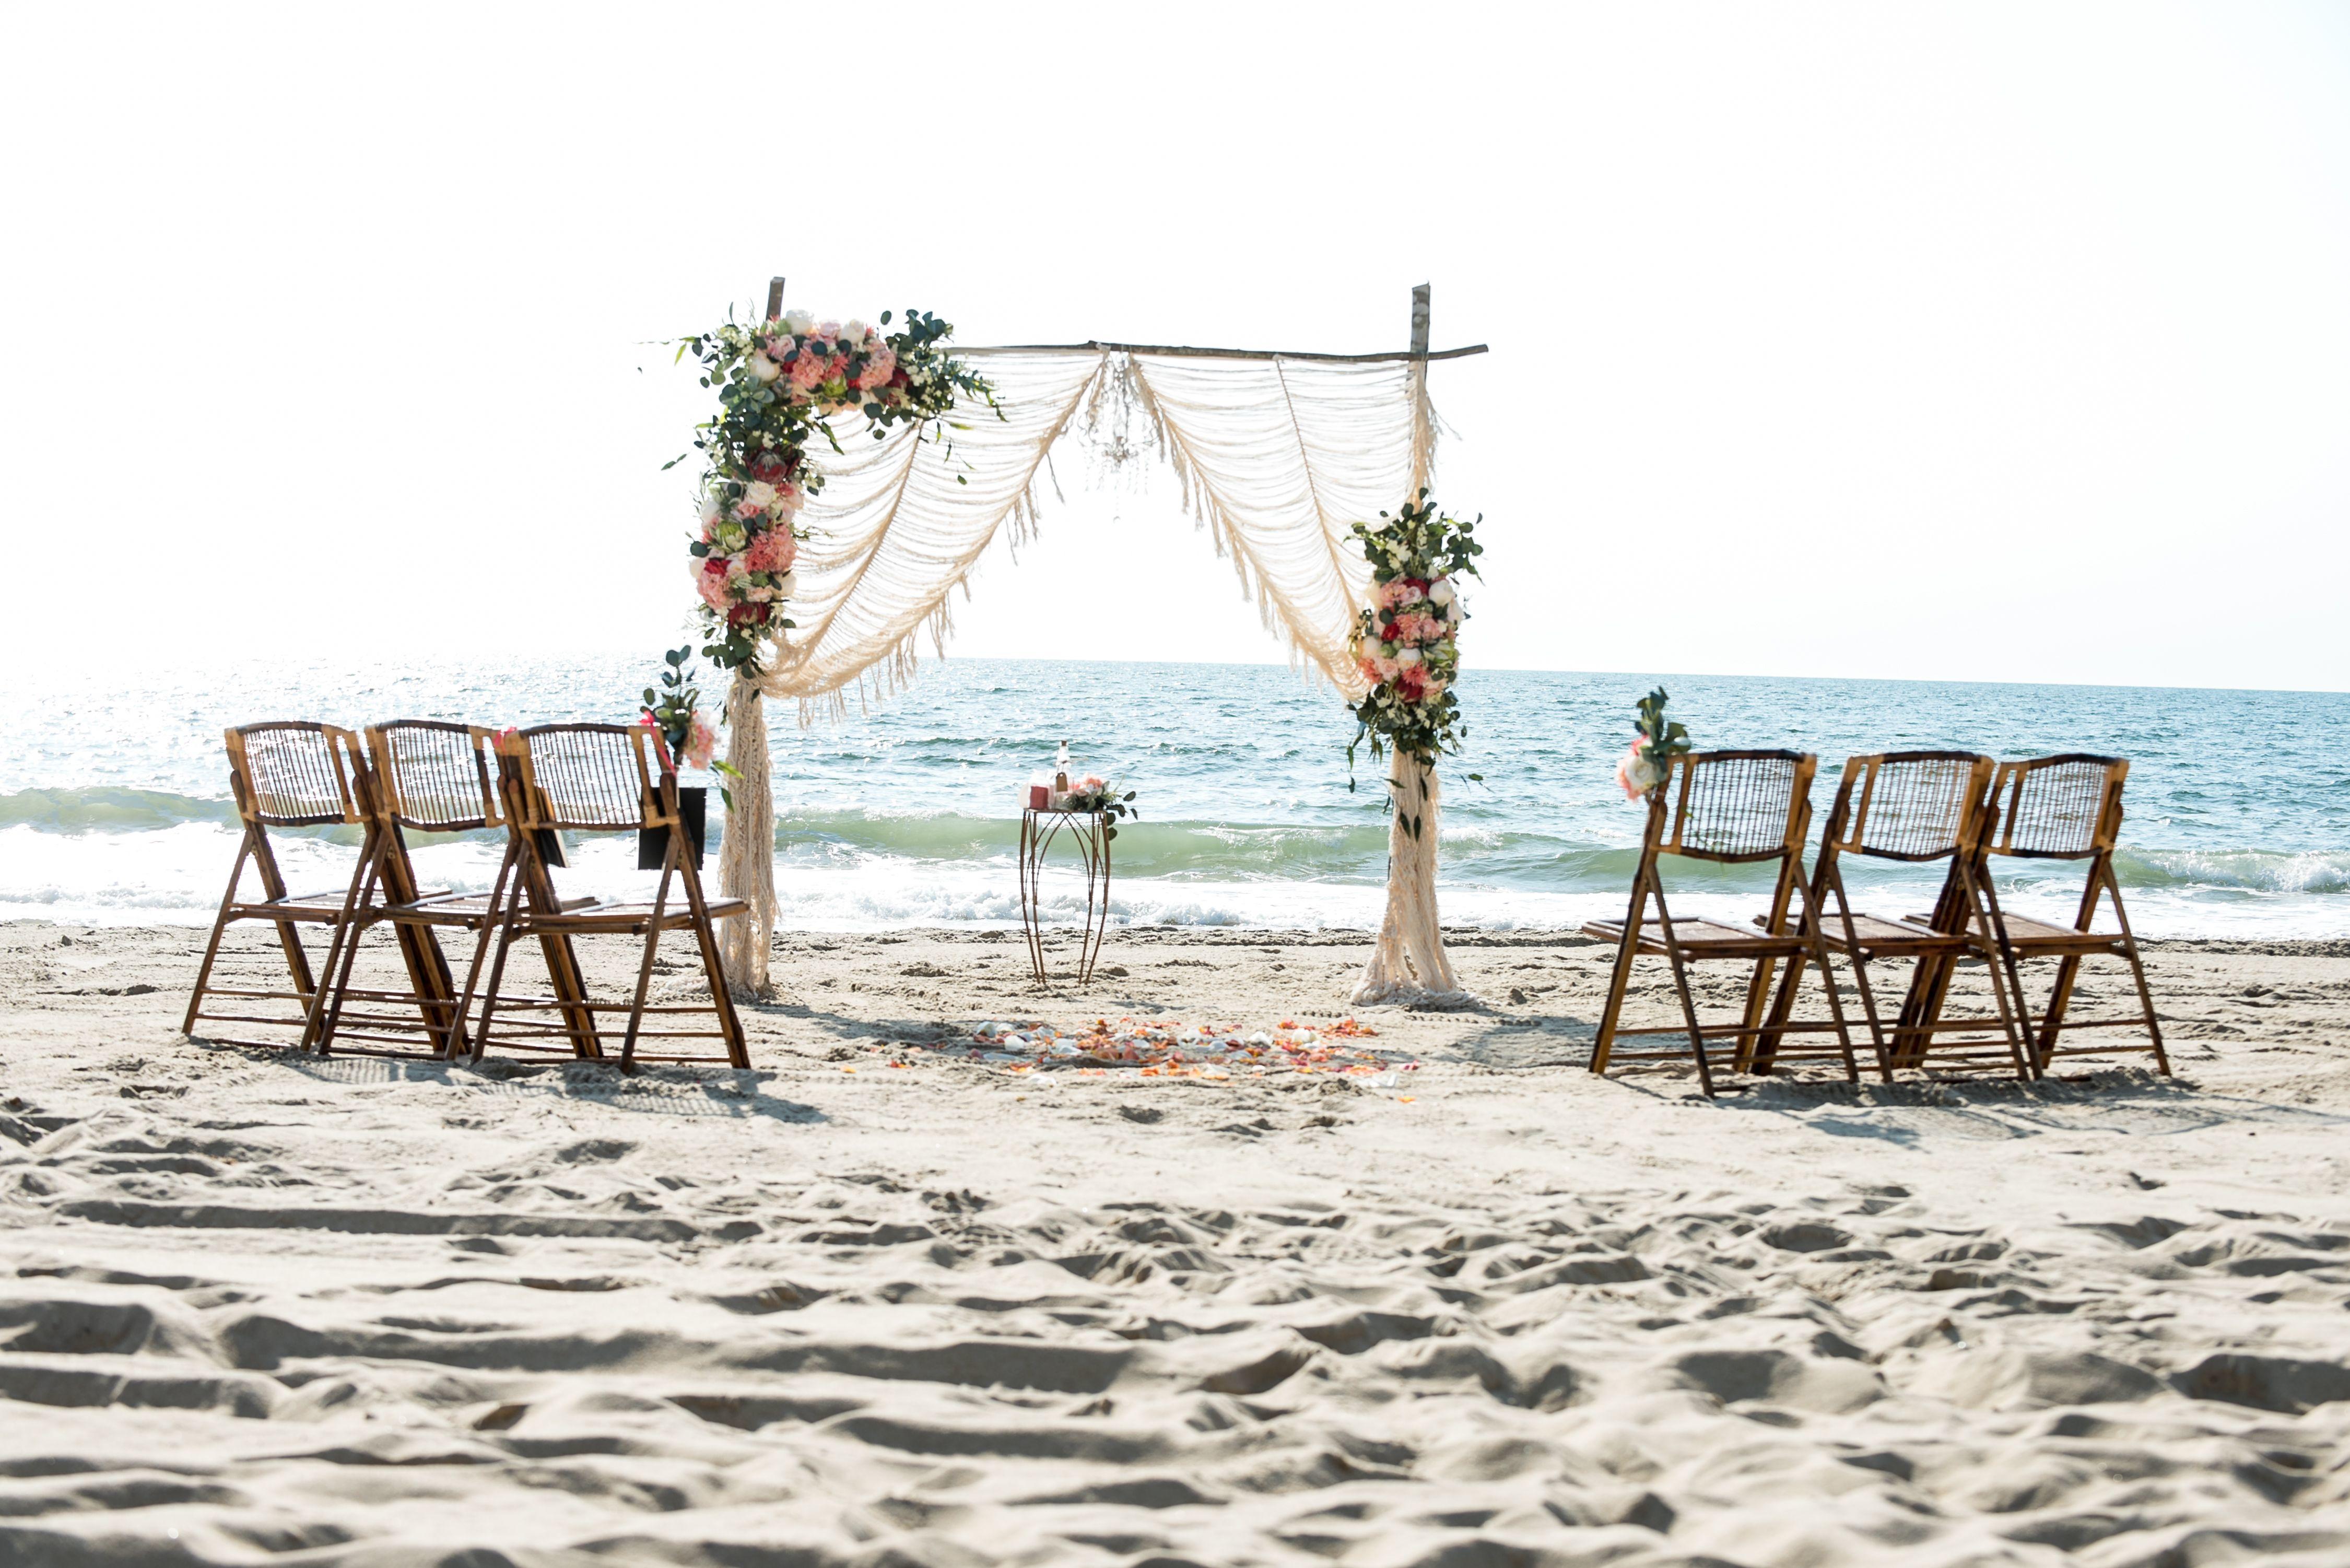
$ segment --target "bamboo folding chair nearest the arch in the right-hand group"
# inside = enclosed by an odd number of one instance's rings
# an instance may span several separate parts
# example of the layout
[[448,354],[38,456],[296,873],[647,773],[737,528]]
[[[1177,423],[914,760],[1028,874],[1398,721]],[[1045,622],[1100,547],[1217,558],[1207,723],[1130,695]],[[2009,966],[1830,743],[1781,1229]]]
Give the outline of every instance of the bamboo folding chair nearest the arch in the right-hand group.
[[[1828,973],[1828,954],[1819,940],[1819,922],[1812,917],[1812,896],[1802,877],[1802,839],[1812,825],[1812,773],[1819,757],[1810,752],[1685,752],[1673,757],[1664,783],[1647,797],[1647,832],[1640,839],[1640,865],[1631,882],[1631,910],[1624,919],[1598,919],[1584,926],[1584,936],[1612,940],[1617,945],[1614,971],[1607,980],[1607,1006],[1600,1013],[1598,1037],[1591,1044],[1591,1072],[1607,1072],[1610,1060],[1697,1060],[1697,1081],[1713,1095],[1713,1063],[1706,1056],[1708,1039],[1737,1041],[1734,1067],[1746,1072],[1772,1072],[1779,1060],[1833,1058],[1842,1065],[1847,1081],[1859,1081],[1859,1065],[1852,1058],[1852,1032],[1845,1027],[1845,1009]],[[1661,856],[1685,856],[1690,860],[1713,860],[1720,865],[1779,863],[1779,879],[1772,889],[1770,914],[1760,931],[1730,926],[1713,919],[1673,919],[1664,903],[1664,879],[1657,872]],[[1647,900],[1657,900],[1657,917],[1645,919]],[[1802,900],[1802,919],[1788,924],[1791,900]],[[1678,1025],[1626,1030],[1619,1027],[1624,992],[1631,983],[1633,959],[1664,957],[1673,966],[1673,990],[1680,997]],[[1828,1020],[1793,1023],[1774,1016],[1765,1023],[1772,969],[1793,961],[1800,976],[1805,964],[1817,964],[1826,978]],[[1697,999],[1690,994],[1692,961],[1739,961],[1753,964],[1746,985],[1746,1009],[1739,1023],[1704,1023],[1697,1016]],[[1758,1058],[1755,1044],[1772,1037],[1774,1051]],[[1835,1034],[1835,1048],[1788,1051],[1779,1046],[1786,1034]],[[1614,1041],[1626,1034],[1687,1034],[1687,1051],[1657,1048],[1619,1053]]]

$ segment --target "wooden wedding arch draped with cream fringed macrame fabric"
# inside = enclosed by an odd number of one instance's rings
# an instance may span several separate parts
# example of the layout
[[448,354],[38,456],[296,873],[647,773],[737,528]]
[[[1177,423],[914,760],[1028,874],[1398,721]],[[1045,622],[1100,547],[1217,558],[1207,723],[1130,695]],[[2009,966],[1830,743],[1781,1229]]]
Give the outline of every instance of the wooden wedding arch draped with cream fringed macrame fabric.
[[[783,280],[766,320],[783,320]],[[830,327],[825,329],[832,331]],[[1292,663],[1349,701],[1370,689],[1349,651],[1372,604],[1372,567],[1354,524],[1422,496],[1436,470],[1429,364],[1485,353],[1429,350],[1429,287],[1412,289],[1410,348],[1328,355],[1159,343],[961,348],[992,395],[959,393],[952,437],[921,423],[867,430],[827,416],[822,489],[797,522],[794,630],[736,670],[726,693],[726,762],[738,773],[719,846],[719,886],[750,917],[726,922],[728,983],[768,990],[776,933],[776,806],[766,698],[799,703],[801,724],[844,717],[914,677],[916,649],[938,656],[949,595],[1006,529],[1039,522],[1046,456],[1069,435],[1114,461],[1156,454],[1182,505],[1215,541]],[[839,364],[839,362],[834,362]],[[992,407],[989,407],[992,400]],[[761,578],[764,581],[764,578]],[[968,590],[966,590],[968,592]],[[1356,1001],[1459,997],[1436,924],[1436,769],[1391,755],[1386,914]]]

